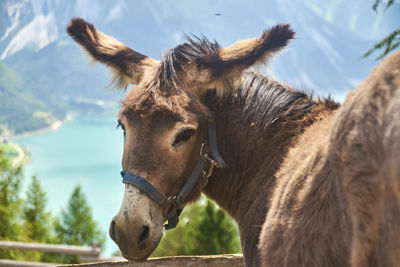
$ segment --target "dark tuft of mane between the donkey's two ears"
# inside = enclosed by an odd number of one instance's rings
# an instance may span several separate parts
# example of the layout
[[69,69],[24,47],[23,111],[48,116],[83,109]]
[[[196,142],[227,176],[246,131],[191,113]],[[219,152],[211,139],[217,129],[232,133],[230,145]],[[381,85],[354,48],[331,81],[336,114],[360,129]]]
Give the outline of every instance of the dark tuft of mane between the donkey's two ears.
[[174,90],[180,84],[180,72],[183,66],[188,62],[196,62],[196,60],[205,55],[209,55],[221,46],[216,42],[209,41],[206,37],[192,38],[186,36],[187,43],[180,44],[175,48],[165,51],[161,56],[160,67],[157,77],[161,90]]

